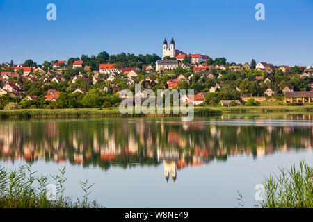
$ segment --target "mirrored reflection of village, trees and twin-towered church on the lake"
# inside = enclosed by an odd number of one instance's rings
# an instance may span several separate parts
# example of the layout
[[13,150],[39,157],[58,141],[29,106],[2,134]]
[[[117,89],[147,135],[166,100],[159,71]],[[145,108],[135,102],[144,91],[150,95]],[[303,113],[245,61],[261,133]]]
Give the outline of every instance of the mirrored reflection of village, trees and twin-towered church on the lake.
[[195,118],[108,118],[0,122],[1,162],[39,158],[106,170],[163,164],[166,181],[177,170],[230,155],[253,158],[312,149],[310,114]]

